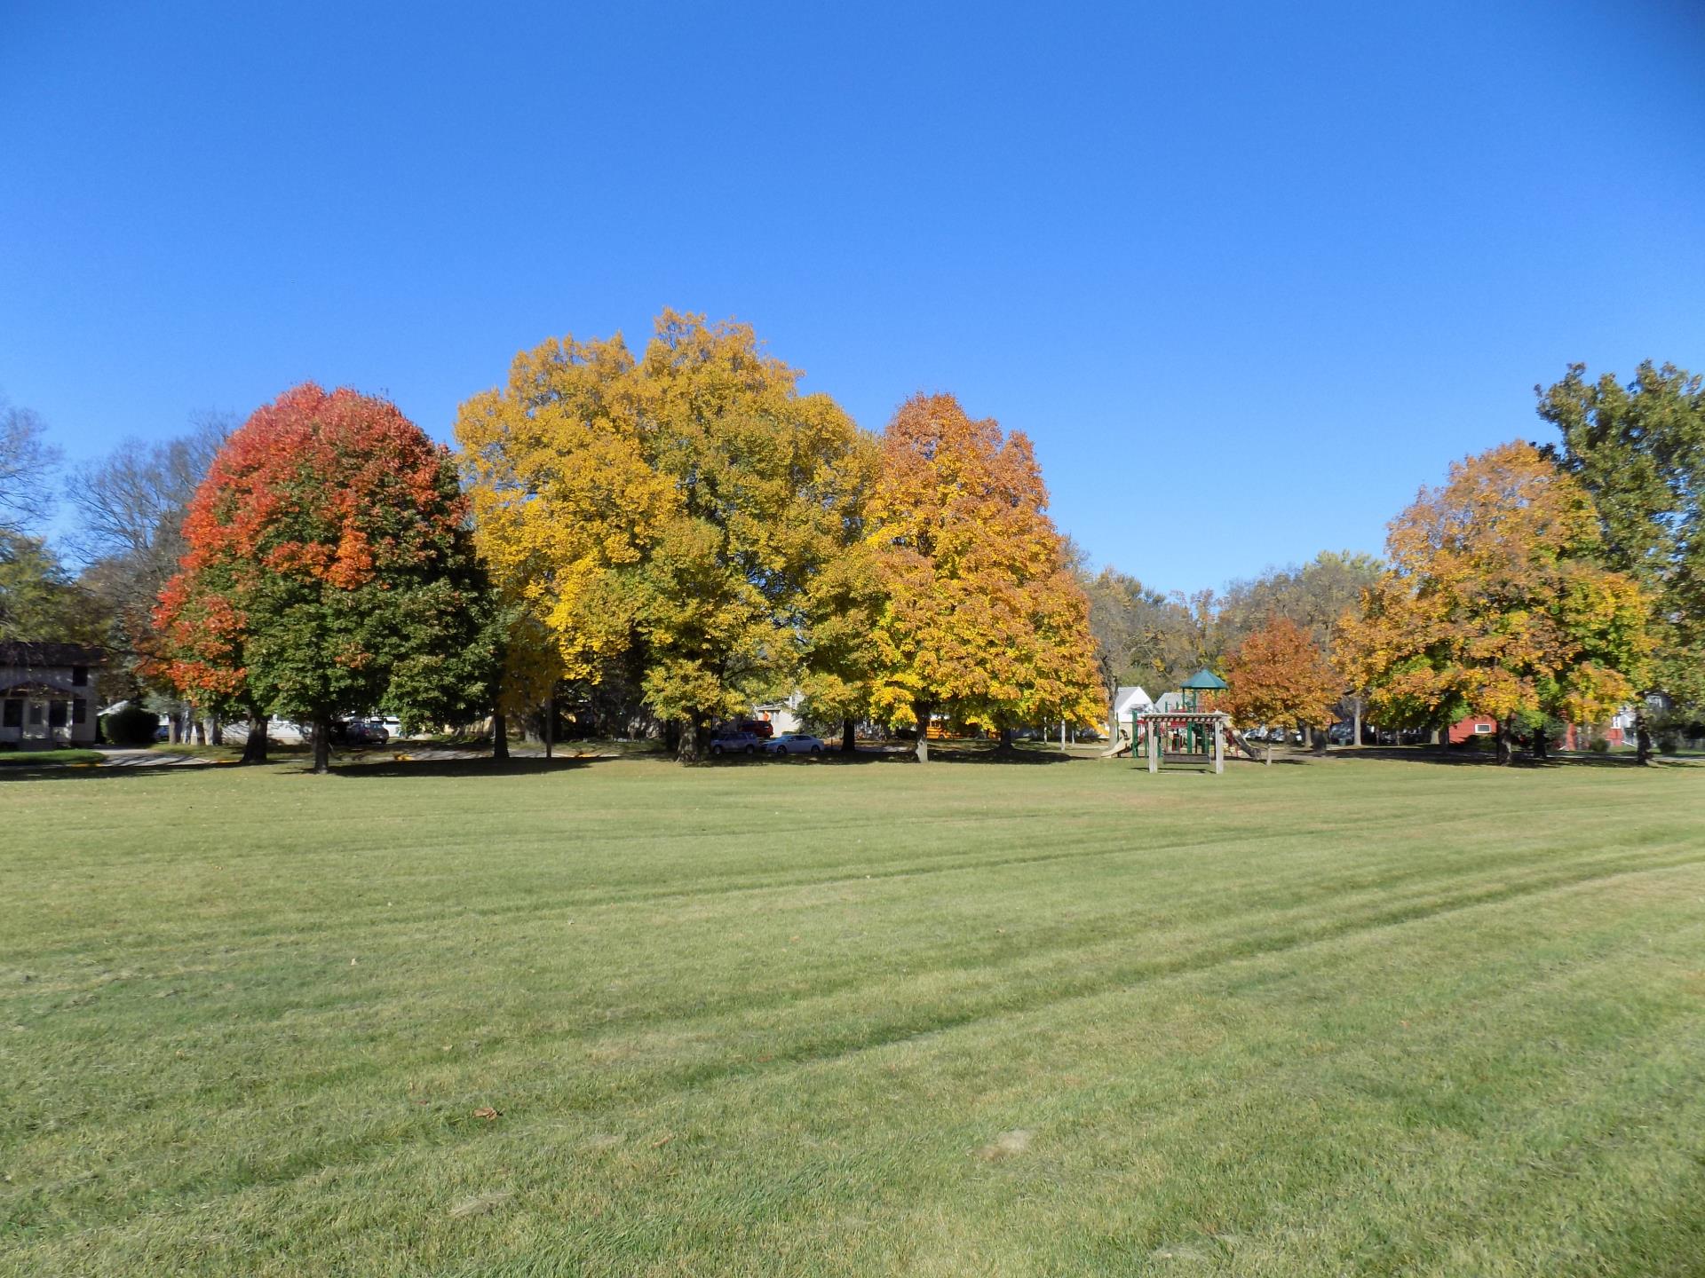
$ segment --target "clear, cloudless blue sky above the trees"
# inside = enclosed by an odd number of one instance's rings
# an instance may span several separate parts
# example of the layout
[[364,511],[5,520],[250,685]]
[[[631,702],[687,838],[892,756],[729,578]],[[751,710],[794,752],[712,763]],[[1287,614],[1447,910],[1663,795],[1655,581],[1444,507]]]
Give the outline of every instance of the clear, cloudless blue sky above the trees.
[[1681,0],[12,0],[0,389],[72,457],[302,378],[448,438],[673,305],[873,429],[953,390],[1217,586],[1379,549],[1570,360],[1705,368],[1702,66]]

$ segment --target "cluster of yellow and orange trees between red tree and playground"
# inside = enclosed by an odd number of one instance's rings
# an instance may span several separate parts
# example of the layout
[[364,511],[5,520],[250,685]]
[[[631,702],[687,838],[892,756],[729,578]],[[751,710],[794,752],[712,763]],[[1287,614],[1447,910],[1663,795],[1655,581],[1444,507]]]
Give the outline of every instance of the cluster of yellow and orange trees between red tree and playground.
[[1088,602],[1030,441],[951,395],[873,438],[798,380],[750,327],[665,312],[638,360],[549,341],[462,406],[510,619],[500,705],[626,666],[682,758],[793,688],[847,748],[870,717],[1093,717]]

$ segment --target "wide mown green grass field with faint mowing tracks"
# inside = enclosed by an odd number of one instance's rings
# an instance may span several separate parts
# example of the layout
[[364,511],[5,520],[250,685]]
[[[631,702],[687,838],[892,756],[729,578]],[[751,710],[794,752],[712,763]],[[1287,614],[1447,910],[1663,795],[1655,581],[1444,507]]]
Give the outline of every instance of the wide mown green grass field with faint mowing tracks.
[[1693,763],[10,775],[0,1273],[1702,1275],[1702,816]]

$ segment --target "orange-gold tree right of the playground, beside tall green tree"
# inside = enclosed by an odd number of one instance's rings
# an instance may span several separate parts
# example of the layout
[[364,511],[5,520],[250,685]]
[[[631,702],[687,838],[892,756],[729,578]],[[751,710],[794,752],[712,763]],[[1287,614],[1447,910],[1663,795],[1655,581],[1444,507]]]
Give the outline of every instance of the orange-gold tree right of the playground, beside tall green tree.
[[1379,721],[1598,722],[1635,697],[1649,602],[1601,562],[1599,520],[1570,475],[1507,443],[1451,467],[1391,521],[1390,569],[1344,625],[1340,670]]

